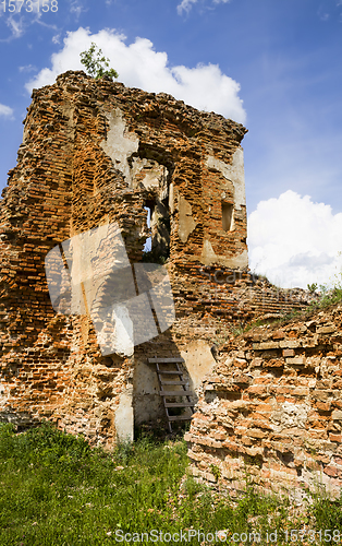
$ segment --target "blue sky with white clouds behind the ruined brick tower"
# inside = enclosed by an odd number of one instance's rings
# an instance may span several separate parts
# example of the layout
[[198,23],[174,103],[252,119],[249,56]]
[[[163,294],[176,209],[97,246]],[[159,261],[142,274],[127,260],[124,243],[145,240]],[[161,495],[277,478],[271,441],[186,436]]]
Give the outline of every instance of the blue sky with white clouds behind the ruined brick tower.
[[82,68],[80,52],[93,40],[126,85],[166,91],[247,127],[252,270],[288,287],[329,282],[340,270],[342,0],[37,5],[26,12],[29,0],[0,2],[1,187],[16,162],[28,90]]

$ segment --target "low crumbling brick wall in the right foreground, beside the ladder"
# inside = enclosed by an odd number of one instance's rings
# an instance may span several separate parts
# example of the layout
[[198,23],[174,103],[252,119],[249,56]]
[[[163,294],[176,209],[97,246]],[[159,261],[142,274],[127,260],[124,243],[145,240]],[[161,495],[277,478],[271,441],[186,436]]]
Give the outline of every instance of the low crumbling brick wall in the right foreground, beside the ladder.
[[186,440],[195,476],[242,490],[342,485],[342,305],[231,341]]

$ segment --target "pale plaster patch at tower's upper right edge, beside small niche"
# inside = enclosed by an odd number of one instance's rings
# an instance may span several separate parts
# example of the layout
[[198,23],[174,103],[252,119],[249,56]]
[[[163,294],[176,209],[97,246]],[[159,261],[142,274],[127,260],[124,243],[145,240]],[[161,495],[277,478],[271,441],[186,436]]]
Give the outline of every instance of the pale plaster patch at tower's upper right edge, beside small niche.
[[241,210],[242,205],[246,205],[245,195],[245,171],[244,171],[244,154],[243,149],[239,147],[233,155],[233,162],[228,165],[221,159],[217,159],[213,155],[209,155],[206,161],[206,166],[210,169],[218,170],[230,180],[234,187],[234,207]]

